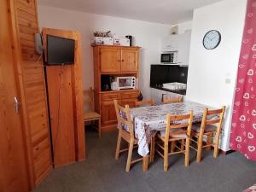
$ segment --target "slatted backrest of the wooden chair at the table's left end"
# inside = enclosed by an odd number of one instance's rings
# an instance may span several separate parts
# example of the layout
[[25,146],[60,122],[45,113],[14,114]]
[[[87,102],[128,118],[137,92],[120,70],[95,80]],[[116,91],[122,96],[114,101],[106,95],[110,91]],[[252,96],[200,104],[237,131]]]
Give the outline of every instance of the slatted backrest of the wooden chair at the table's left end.
[[116,100],[113,100],[113,103],[118,119],[118,128],[129,132],[131,138],[134,138],[133,122],[131,120],[129,105],[125,105],[125,108],[123,108]]

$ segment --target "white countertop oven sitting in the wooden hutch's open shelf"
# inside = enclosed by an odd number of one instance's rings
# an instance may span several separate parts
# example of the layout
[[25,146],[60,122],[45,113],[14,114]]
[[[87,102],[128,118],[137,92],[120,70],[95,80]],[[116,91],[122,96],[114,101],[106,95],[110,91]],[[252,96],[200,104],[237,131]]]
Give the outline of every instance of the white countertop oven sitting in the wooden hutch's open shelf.
[[125,90],[125,89],[135,89],[137,84],[136,77],[115,77],[111,83],[111,90]]

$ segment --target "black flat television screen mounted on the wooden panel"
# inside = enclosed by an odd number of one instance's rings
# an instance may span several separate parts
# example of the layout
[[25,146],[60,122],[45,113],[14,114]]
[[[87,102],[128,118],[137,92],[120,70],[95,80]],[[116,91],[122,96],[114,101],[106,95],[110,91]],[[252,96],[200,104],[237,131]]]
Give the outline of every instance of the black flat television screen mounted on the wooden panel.
[[74,63],[75,41],[47,35],[47,65]]

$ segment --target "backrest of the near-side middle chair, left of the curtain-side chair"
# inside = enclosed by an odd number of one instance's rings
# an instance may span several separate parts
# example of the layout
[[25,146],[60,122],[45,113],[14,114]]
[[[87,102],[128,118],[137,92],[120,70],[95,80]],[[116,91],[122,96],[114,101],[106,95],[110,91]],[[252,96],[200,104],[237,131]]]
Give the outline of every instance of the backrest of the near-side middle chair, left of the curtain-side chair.
[[166,142],[169,136],[187,135],[191,136],[191,129],[193,123],[193,111],[187,114],[167,114],[166,119]]

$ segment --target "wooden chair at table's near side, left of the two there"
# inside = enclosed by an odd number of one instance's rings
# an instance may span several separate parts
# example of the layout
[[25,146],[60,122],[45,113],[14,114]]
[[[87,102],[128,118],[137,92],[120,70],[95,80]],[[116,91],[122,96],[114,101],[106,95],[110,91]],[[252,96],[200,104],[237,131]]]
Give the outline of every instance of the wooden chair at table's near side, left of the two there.
[[[160,133],[156,135],[159,142],[153,141],[157,148],[151,148],[150,161],[154,161],[154,152],[160,154],[164,159],[164,171],[168,170],[168,155],[171,154],[185,154],[185,166],[189,166],[189,145],[191,136],[191,126],[193,122],[193,111],[188,114],[172,115],[167,114],[166,119],[166,133],[162,137]],[[181,146],[177,146],[176,143]],[[170,143],[172,144],[170,146]],[[171,147],[171,150],[169,150]],[[175,149],[178,149],[175,151]],[[163,152],[163,153],[162,153]]]

